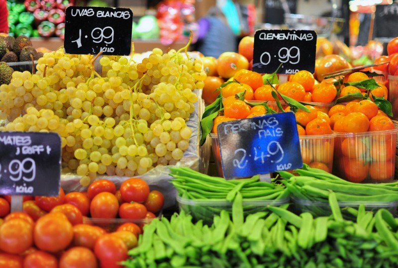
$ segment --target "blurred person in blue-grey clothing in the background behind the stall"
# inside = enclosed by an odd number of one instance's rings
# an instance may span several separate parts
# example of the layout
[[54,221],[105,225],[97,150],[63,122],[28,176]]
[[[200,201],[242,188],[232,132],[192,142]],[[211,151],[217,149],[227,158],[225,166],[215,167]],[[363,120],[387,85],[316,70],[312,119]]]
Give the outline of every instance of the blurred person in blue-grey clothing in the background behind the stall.
[[199,34],[196,50],[204,56],[218,58],[226,51],[236,52],[237,40],[224,13],[217,6],[211,7],[198,21]]

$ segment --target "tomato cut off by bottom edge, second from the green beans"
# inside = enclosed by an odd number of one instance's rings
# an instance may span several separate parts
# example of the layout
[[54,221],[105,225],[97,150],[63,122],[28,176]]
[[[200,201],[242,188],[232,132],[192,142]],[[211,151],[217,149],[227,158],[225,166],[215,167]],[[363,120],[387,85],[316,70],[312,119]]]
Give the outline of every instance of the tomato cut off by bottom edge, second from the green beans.
[[73,247],[64,252],[59,260],[59,268],[97,268],[94,253],[83,247]]

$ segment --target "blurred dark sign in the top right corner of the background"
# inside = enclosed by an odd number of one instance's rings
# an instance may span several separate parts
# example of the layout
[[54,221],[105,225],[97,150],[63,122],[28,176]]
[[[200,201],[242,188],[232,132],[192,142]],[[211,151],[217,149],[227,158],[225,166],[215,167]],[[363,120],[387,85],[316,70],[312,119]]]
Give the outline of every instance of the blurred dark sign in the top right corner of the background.
[[398,36],[398,3],[378,4],[375,12],[375,36],[390,37]]

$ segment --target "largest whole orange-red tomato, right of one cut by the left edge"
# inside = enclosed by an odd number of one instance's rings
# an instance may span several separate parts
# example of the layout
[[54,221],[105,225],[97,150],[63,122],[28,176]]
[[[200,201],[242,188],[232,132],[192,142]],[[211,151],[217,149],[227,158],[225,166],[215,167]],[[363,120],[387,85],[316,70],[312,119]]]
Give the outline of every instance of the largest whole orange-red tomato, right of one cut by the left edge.
[[40,250],[58,252],[72,242],[73,226],[65,214],[48,213],[37,220],[33,238]]

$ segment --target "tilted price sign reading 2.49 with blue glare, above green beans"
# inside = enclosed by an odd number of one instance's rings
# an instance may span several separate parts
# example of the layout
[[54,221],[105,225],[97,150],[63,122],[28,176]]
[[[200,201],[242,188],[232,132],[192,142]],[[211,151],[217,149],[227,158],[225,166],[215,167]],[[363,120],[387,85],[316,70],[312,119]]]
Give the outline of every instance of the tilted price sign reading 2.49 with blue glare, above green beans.
[[293,112],[223,122],[217,133],[226,179],[302,167]]

